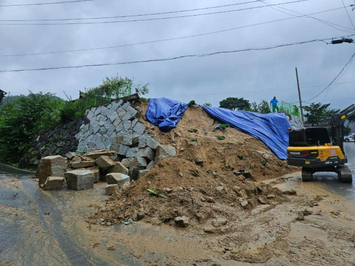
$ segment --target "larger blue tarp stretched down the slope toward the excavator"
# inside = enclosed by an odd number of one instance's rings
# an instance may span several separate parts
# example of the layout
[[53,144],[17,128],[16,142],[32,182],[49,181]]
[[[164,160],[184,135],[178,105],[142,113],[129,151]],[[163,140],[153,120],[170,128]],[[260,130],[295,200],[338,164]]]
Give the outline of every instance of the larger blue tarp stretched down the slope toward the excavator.
[[232,111],[224,108],[202,106],[218,120],[231,124],[236,129],[247,133],[267,145],[278,158],[286,159],[288,147],[288,127],[291,127],[284,113],[258,113]]

